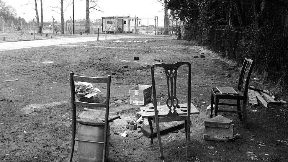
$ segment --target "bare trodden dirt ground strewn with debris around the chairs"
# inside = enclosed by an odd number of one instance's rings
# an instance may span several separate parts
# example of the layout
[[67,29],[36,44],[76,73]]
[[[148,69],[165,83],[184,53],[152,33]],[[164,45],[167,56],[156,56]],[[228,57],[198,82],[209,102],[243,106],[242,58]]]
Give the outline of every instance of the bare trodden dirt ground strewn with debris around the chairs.
[[[202,52],[206,58],[193,58]],[[211,87],[236,87],[240,68],[229,71],[232,77],[226,78],[228,67],[235,65],[192,42],[163,36],[157,39],[143,37],[118,42],[107,40],[8,50],[0,52],[0,56],[0,161],[68,160],[71,122],[66,117],[71,116],[70,72],[98,77],[116,73],[112,75],[110,111],[122,115],[121,119],[110,123],[111,162],[251,161],[253,155],[259,161],[288,159],[286,104],[269,108],[249,105],[249,129],[239,121],[237,114],[219,113],[234,121],[234,139],[230,142],[203,140],[204,119],[210,117],[210,110],[205,109],[210,104]],[[134,57],[140,60],[135,61]],[[191,98],[200,115],[191,117],[189,157],[186,156],[186,139],[181,131],[161,136],[164,160],[159,158],[157,138],[150,144],[150,140],[138,132],[139,129],[127,130],[128,137],[120,135],[126,130],[127,120],[136,120],[135,112],[140,111],[140,106],[129,104],[129,89],[137,84],[151,85],[150,66],[159,63],[154,61],[155,58],[165,63],[188,61],[192,64]],[[125,65],[128,68],[123,68]],[[181,76],[184,72],[186,70],[181,68],[177,79],[180,103],[185,103],[186,99],[186,85],[181,82],[186,79]],[[161,70],[156,71],[156,85],[159,87],[156,91],[161,105],[167,94],[163,77]],[[10,79],[19,80],[3,82]],[[253,80],[250,85],[261,88],[259,82]],[[278,97],[287,100],[285,94]],[[125,102],[114,104],[115,99]],[[33,113],[21,116],[30,112]],[[73,161],[77,161],[77,142]]]

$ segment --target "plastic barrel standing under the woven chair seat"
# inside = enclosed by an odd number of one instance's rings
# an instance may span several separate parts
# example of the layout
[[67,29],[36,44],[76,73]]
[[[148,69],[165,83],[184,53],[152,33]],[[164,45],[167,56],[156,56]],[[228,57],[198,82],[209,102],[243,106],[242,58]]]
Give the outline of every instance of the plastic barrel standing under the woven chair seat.
[[[110,125],[108,124],[108,133],[110,134]],[[104,141],[104,125],[89,126],[80,124],[78,128],[78,139],[89,141]],[[107,138],[106,160],[109,155],[109,137]],[[83,162],[102,162],[103,143],[92,143],[78,141],[78,161]]]

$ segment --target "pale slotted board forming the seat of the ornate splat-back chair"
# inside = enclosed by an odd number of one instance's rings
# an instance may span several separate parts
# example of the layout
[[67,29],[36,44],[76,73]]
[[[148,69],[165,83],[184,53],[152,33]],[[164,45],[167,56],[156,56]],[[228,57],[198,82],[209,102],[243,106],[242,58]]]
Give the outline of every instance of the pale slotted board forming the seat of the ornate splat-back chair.
[[[191,103],[191,109],[190,109],[190,114],[199,114],[199,111],[197,108]],[[141,115],[142,117],[154,117],[155,112],[154,112],[154,107],[140,107],[141,109]],[[169,108],[167,105],[161,105],[157,106],[158,109],[158,116],[159,117],[165,117],[168,114]],[[176,108],[177,113],[180,115],[185,115],[187,114],[187,104],[179,104],[179,108]],[[173,112],[173,109],[172,109]]]

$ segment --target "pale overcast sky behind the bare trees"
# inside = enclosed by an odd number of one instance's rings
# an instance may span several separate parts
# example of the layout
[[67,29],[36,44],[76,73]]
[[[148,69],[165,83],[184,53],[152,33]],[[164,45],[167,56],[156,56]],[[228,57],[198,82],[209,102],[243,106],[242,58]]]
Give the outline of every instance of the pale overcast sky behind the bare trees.
[[[18,16],[23,17],[26,21],[35,18],[35,5],[34,0],[4,0],[6,4],[11,5],[17,11]],[[51,7],[60,6],[59,0],[42,0],[43,1],[43,19],[44,21],[52,21],[52,16],[56,21],[60,22],[61,16],[57,12],[52,11]],[[70,5],[64,12],[64,19],[70,19],[72,17],[72,0]],[[30,4],[30,5],[25,5]],[[164,10],[163,6],[156,0],[98,0],[97,3],[101,10],[93,11],[89,14],[90,19],[97,19],[106,16],[128,16],[139,18],[153,18],[158,16],[159,26],[164,25]],[[40,1],[37,3],[38,13],[40,17]],[[66,5],[67,6],[67,5]],[[66,8],[64,4],[64,9]],[[86,9],[86,0],[74,0],[74,19],[84,19]],[[60,12],[60,9],[56,8],[56,11]]]

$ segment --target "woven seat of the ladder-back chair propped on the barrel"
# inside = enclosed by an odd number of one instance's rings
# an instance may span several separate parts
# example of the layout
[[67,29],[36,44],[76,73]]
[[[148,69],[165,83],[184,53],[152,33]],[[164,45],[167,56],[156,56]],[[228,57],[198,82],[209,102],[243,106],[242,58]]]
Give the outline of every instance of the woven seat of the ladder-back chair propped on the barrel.
[[[109,112],[108,116],[108,122],[120,118],[120,115],[115,112]],[[76,122],[86,125],[105,125],[105,111],[84,109],[84,111],[76,117]]]

